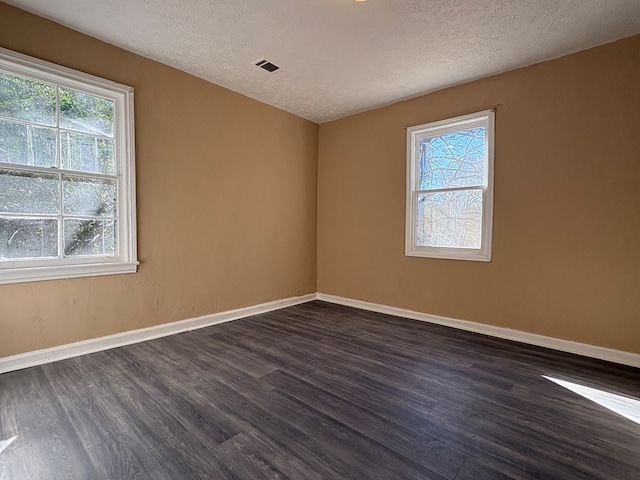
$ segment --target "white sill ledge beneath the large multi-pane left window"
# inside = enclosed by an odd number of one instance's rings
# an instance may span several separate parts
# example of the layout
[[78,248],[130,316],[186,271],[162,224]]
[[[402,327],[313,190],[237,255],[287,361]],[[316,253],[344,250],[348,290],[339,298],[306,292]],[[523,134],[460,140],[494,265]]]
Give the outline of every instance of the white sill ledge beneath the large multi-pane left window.
[[96,277],[135,273],[139,262],[93,263],[83,265],[56,265],[50,267],[0,268],[0,285],[8,283],[39,282],[78,277]]

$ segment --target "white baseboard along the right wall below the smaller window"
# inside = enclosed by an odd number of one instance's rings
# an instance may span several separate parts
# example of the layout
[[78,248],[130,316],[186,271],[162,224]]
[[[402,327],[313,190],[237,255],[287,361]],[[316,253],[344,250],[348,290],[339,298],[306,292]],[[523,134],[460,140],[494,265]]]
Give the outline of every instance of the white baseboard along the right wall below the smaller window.
[[386,313],[395,317],[411,318],[423,322],[436,323],[446,327],[453,327],[460,330],[482,333],[492,337],[514,340],[516,342],[528,343],[539,347],[551,348],[562,352],[575,353],[585,357],[607,360],[609,362],[629,365],[631,367],[640,368],[640,354],[624,352],[622,350],[614,350],[612,348],[598,347],[588,345],[586,343],[572,342],[570,340],[562,340],[560,338],[546,337],[535,333],[522,332],[520,330],[512,330],[510,328],[495,327],[484,323],[469,322],[467,320],[458,320],[455,318],[440,317],[438,315],[430,315],[428,313],[416,312],[413,310],[405,310],[403,308],[390,307],[388,305],[380,305],[377,303],[365,302],[363,300],[354,300],[351,298],[337,297],[335,295],[327,295],[318,293],[318,300],[348,307],[360,308],[372,312]]

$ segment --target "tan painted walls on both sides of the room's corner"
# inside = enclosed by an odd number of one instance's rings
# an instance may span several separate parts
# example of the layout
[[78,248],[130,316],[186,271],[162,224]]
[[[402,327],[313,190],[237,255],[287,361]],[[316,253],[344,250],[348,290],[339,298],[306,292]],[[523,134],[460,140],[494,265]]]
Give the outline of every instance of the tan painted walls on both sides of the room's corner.
[[[0,46],[136,89],[141,261],[0,285],[0,357],[316,287],[640,353],[640,37],[323,124],[319,143],[311,122],[3,3]],[[496,104],[492,262],[405,257],[404,127]]]

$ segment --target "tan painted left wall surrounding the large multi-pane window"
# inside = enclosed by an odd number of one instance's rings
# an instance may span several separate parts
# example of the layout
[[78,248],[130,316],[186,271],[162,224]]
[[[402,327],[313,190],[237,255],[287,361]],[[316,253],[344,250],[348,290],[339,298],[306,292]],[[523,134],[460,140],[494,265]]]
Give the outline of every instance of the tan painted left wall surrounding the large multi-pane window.
[[135,88],[141,261],[0,285],[0,357],[316,291],[316,124],[3,3],[0,46]]

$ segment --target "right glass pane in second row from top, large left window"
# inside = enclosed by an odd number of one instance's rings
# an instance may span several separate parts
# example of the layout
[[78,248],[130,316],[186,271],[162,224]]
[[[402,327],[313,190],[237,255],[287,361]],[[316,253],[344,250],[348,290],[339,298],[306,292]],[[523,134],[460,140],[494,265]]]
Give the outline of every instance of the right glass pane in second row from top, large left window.
[[62,168],[87,173],[115,174],[113,140],[63,132],[60,141]]

